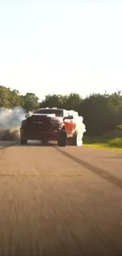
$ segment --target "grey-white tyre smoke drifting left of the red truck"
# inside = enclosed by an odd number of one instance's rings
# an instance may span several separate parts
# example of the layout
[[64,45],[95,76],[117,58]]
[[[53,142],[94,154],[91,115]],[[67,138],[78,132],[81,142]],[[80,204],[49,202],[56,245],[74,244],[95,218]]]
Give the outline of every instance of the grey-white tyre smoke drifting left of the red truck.
[[20,123],[26,112],[21,107],[5,109],[0,107],[0,139],[18,140]]

